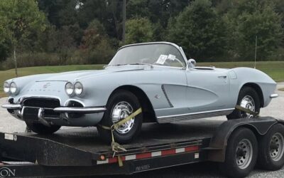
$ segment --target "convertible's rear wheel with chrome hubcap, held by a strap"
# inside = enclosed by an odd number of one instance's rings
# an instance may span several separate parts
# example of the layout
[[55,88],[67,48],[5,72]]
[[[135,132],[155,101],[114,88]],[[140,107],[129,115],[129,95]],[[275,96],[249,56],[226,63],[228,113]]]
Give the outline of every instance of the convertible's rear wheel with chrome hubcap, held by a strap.
[[[254,90],[251,87],[245,86],[241,88],[238,101],[236,104],[240,105],[243,108],[247,108],[251,111],[258,113],[261,110],[261,102],[258,93],[256,92],[256,90]],[[251,117],[251,115],[241,110],[234,110],[233,112],[231,112],[231,114],[227,115],[226,117],[228,118],[228,120],[233,120],[233,119]]]

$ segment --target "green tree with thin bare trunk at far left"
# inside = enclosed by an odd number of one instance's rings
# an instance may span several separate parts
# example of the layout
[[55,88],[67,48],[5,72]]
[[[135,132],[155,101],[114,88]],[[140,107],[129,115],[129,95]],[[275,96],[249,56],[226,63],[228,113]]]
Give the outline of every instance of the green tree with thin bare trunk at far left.
[[8,31],[7,34],[13,46],[15,68],[17,68],[16,51],[18,46],[31,36],[36,36],[37,33],[44,30],[45,15],[38,10],[38,4],[35,0],[1,0],[0,19],[6,19],[6,21],[0,23]]

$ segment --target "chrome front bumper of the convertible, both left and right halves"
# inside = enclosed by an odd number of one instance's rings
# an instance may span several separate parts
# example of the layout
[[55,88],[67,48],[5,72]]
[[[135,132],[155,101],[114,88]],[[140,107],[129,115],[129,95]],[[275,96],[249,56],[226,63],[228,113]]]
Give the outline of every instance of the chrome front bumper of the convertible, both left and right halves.
[[[6,103],[1,106],[2,108],[8,109],[8,110],[21,110],[23,106],[21,104],[11,104]],[[45,109],[45,108],[41,108]],[[50,108],[47,108],[50,110]],[[58,107],[51,109],[54,112],[59,113],[81,113],[81,114],[92,114],[92,113],[98,113],[98,112],[104,112],[107,110],[107,108],[104,107]]]

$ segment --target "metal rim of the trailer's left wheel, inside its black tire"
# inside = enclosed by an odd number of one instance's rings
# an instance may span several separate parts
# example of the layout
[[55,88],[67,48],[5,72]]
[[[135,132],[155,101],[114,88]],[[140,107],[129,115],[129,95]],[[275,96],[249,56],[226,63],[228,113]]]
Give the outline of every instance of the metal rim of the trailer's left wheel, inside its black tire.
[[251,164],[253,157],[253,147],[247,139],[241,140],[236,147],[236,164],[240,169],[246,169]]

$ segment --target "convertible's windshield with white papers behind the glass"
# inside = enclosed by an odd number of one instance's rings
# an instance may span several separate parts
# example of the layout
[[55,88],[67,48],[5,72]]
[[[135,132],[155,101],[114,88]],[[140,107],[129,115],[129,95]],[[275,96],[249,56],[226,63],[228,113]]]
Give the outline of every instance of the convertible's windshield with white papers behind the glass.
[[121,48],[109,66],[151,64],[159,66],[185,67],[185,61],[175,46],[165,43],[141,44]]

